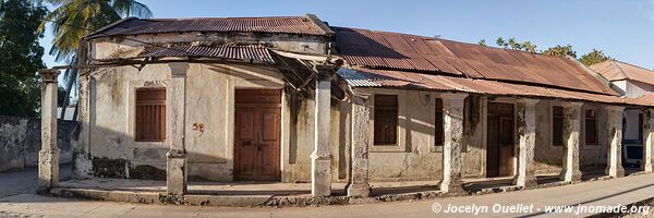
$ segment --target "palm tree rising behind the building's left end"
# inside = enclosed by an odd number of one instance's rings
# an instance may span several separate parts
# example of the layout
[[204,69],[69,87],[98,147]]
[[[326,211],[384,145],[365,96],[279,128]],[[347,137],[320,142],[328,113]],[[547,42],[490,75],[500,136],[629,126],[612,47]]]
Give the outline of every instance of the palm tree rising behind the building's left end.
[[[39,26],[39,32],[50,24],[55,38],[50,55],[57,61],[65,60],[75,64],[75,53],[82,37],[117,22],[126,16],[152,17],[152,11],[136,0],[37,0],[49,3],[55,10],[50,11]],[[63,83],[65,84],[66,98],[63,108],[68,107],[71,90],[76,84],[77,70],[66,70]],[[76,110],[75,110],[76,113]],[[61,118],[65,109],[61,110]]]

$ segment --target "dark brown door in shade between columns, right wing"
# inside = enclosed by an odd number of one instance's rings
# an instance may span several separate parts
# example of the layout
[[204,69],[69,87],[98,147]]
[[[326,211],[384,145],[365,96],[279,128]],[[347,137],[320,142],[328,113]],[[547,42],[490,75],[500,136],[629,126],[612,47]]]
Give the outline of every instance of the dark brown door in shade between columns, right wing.
[[488,104],[486,177],[513,174],[513,106]]

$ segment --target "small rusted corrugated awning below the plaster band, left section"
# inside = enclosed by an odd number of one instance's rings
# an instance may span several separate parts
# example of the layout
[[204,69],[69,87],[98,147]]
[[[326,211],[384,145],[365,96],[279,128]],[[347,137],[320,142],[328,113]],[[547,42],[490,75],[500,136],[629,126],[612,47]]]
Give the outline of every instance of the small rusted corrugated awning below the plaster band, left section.
[[207,57],[275,63],[269,50],[258,46],[149,46],[145,47],[137,58],[152,57]]

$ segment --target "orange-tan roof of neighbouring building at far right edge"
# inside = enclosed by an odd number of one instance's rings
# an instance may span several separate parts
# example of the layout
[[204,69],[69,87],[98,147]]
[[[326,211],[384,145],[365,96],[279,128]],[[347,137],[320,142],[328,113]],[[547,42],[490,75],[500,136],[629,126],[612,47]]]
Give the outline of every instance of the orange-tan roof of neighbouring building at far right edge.
[[654,85],[654,71],[621,61],[608,60],[595,63],[591,69],[609,81],[632,80]]

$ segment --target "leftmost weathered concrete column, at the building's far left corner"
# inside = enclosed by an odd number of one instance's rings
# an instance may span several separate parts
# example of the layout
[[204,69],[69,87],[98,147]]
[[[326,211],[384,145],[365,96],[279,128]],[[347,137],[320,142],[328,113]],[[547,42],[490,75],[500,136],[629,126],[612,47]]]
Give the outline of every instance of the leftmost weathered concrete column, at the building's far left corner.
[[37,192],[47,192],[59,183],[57,147],[57,70],[44,70],[41,76],[41,149],[38,153]]

